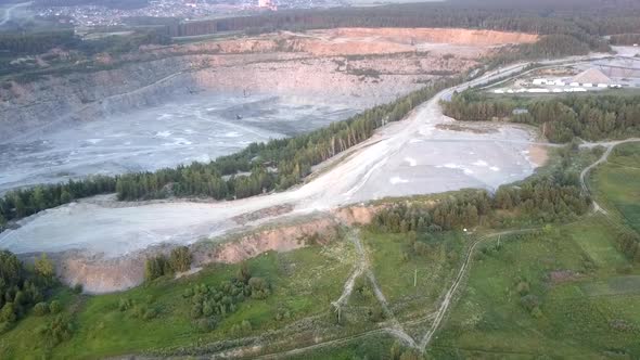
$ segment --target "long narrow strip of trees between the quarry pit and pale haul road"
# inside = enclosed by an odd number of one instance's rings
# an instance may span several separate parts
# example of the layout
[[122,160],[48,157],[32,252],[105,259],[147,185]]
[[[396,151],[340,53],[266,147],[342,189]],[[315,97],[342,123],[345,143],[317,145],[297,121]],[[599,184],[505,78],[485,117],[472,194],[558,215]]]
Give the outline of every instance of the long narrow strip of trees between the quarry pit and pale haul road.
[[289,139],[252,143],[239,153],[208,164],[193,163],[119,177],[91,177],[13,191],[0,198],[0,230],[9,220],[95,194],[117,192],[119,200],[169,195],[225,200],[284,190],[299,183],[311,172],[311,166],[369,139],[376,128],[402,119],[413,107],[460,81],[460,78],[438,80],[325,128]]

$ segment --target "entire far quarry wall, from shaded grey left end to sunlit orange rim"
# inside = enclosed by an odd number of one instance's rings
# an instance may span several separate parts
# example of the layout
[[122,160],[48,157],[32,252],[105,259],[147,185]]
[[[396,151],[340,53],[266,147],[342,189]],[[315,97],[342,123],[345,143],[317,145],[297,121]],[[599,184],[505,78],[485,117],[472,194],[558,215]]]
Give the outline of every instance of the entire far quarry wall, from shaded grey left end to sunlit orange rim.
[[[536,39],[486,30],[345,28],[144,47],[110,57],[110,69],[3,85],[0,141],[201,90],[354,97],[369,106],[469,69],[495,46]],[[103,57],[97,56],[98,66],[105,66]]]

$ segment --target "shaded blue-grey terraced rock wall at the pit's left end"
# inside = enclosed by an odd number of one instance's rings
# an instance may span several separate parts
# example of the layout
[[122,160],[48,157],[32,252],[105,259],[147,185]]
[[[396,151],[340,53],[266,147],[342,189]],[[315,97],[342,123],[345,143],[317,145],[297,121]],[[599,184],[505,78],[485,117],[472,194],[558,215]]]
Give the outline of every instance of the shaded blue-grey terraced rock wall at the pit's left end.
[[[114,112],[162,103],[167,95],[188,92],[189,68],[180,59],[130,64],[97,73],[47,77],[0,88],[0,141],[41,130],[64,120],[91,120]],[[163,80],[164,79],[164,80]]]

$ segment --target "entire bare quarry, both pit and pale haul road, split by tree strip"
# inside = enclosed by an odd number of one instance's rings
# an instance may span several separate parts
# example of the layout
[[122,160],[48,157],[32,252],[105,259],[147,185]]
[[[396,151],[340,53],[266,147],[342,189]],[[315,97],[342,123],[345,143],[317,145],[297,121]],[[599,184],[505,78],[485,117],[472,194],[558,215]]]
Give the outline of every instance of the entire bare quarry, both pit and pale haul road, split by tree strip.
[[[100,59],[121,62],[113,69],[12,82],[0,89],[0,124],[7,129],[0,134],[0,191],[208,160],[249,142],[344,119],[425,81],[471,69],[500,46],[535,40],[455,29],[282,33],[145,48],[126,59]],[[457,90],[524,66],[486,74]],[[80,200],[20,220],[0,234],[0,246],[25,256],[50,253],[66,282],[111,292],[139,284],[145,254],[163,245],[197,248],[202,240],[210,244],[256,227],[278,229],[276,220],[282,231],[294,218],[307,219],[294,227],[298,233],[281,233],[281,241],[261,230],[263,237],[225,242],[227,250],[194,254],[196,265],[238,261],[298,246],[296,236],[321,232],[344,206],[464,188],[494,190],[545,162],[543,143],[527,128],[458,126],[445,117],[438,102],[453,90],[338,154],[294,189],[228,202]]]

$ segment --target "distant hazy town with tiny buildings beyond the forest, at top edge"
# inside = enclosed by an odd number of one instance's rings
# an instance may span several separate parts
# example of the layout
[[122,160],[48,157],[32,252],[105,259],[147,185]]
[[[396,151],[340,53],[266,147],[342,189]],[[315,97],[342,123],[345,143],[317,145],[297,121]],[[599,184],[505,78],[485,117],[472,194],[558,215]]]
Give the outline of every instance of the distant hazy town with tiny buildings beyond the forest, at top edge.
[[345,0],[155,0],[141,9],[101,5],[39,7],[36,14],[80,27],[117,26],[127,17],[176,17],[184,21],[232,16],[260,11],[348,5]]

